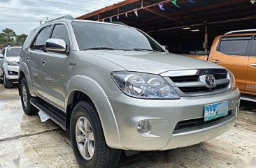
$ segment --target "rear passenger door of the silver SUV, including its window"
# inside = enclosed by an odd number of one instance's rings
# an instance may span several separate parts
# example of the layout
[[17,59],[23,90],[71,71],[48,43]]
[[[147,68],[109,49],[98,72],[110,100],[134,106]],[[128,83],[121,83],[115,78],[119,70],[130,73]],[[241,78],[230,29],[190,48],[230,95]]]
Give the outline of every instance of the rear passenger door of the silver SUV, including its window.
[[46,26],[38,32],[26,55],[26,63],[30,71],[31,84],[34,92],[40,97],[42,97],[41,56],[44,51],[45,42],[50,35],[50,28],[51,26]]

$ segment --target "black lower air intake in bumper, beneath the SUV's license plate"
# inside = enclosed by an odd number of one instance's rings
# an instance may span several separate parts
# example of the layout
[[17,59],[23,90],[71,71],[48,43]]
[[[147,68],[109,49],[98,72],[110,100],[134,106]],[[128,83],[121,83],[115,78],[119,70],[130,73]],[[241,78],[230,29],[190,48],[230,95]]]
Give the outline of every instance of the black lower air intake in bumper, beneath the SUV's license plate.
[[[232,110],[229,110],[229,112],[227,113],[227,116],[229,116],[230,114],[232,114]],[[177,123],[174,130],[181,130],[181,129],[191,128],[191,127],[198,126],[198,125],[204,125],[204,124],[207,124],[207,123],[212,123],[214,121],[218,121],[220,119],[223,119],[227,116],[222,116],[218,119],[213,119],[211,121],[204,121],[204,117],[202,117],[200,119],[191,119],[191,120],[180,121],[180,122]]]

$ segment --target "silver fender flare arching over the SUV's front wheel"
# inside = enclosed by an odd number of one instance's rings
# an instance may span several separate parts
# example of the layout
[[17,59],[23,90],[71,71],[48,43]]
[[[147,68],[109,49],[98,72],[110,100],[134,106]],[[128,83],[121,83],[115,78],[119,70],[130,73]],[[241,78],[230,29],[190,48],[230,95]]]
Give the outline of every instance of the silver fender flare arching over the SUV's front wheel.
[[108,101],[108,96],[101,86],[90,77],[83,75],[72,77],[66,86],[65,109],[69,103],[69,96],[73,91],[85,93],[94,103],[104,131],[106,144],[112,148],[122,148],[115,114]]

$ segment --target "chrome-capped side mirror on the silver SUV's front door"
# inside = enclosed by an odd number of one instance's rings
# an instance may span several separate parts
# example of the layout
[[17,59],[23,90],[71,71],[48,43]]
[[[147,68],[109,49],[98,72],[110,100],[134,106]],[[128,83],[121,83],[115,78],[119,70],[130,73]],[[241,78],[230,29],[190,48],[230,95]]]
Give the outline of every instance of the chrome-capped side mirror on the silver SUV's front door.
[[63,54],[66,52],[66,43],[64,40],[59,38],[49,38],[45,42],[45,51]]

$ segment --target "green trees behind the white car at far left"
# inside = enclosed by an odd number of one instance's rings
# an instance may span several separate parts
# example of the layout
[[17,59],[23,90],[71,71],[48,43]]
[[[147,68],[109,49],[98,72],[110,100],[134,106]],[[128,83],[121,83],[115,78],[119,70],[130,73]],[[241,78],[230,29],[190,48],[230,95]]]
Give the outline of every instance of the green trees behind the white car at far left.
[[1,46],[22,45],[27,38],[27,34],[17,35],[13,29],[6,28],[0,32]]

